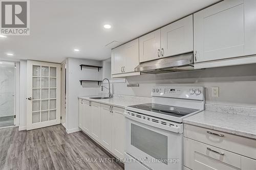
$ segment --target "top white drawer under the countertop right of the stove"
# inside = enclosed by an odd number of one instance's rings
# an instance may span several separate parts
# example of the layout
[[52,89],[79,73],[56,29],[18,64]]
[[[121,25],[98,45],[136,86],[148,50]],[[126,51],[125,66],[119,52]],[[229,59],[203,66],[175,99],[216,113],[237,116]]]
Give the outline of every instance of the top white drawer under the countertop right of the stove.
[[256,140],[184,124],[184,136],[256,159]]

